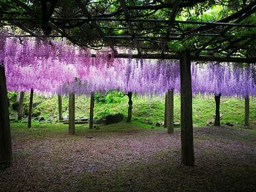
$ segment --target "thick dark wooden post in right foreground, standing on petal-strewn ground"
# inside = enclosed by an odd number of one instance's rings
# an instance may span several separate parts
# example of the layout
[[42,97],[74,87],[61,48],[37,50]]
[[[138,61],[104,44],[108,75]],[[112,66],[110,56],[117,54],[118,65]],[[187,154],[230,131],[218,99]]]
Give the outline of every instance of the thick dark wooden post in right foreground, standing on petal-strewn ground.
[[180,53],[181,72],[181,163],[193,166],[193,122],[192,122],[192,82],[191,61],[188,50]]

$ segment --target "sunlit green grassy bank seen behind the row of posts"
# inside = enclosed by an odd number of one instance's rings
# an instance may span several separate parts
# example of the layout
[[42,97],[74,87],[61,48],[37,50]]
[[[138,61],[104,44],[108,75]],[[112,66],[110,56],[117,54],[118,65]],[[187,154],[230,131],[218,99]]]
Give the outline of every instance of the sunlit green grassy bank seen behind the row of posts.
[[[133,96],[132,118],[141,123],[163,122],[164,120],[164,96],[141,97]],[[29,94],[26,94],[24,105],[25,111],[28,110]],[[94,117],[102,118],[104,115],[116,114],[121,112],[126,117],[128,98],[124,96],[119,98],[119,103],[101,104],[95,102]],[[34,112],[39,112],[45,120],[57,120],[58,102],[57,96],[50,96],[45,99],[44,96],[34,96]],[[76,118],[89,117],[90,99],[88,96],[76,96],[75,116]],[[174,96],[174,121],[180,122],[180,96]],[[10,110],[11,118],[16,118],[17,114]],[[244,123],[244,99],[221,98],[220,113],[222,114],[222,123]],[[214,122],[215,101],[214,96],[200,96],[193,98],[193,122],[195,126],[206,126],[209,122]],[[68,117],[68,98],[63,97],[63,115]],[[250,120],[256,123],[256,102],[251,99],[250,102]]]

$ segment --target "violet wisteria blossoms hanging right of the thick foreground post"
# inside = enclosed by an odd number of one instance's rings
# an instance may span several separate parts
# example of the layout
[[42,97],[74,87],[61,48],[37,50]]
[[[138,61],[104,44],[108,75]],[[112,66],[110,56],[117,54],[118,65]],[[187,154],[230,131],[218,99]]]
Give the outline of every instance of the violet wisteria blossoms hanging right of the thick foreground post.
[[194,65],[192,66],[193,93],[255,96],[256,84],[252,70],[255,70],[255,66],[249,64],[244,68],[219,63]]

